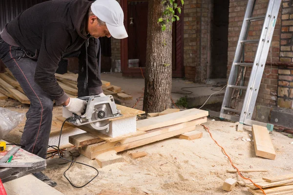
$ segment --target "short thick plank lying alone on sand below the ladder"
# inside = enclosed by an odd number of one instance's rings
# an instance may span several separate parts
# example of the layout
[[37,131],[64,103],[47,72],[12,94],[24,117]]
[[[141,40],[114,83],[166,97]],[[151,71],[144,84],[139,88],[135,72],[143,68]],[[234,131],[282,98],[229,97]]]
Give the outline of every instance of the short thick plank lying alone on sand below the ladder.
[[252,135],[256,156],[274,160],[276,153],[268,129],[263,126],[252,125]]

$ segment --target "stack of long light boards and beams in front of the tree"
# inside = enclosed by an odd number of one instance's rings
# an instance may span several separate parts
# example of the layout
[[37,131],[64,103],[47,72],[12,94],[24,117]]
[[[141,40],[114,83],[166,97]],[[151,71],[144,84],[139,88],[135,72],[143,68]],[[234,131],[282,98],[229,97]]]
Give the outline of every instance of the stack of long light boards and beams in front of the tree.
[[121,137],[105,137],[99,135],[97,131],[80,127],[87,133],[71,136],[69,142],[79,148],[82,155],[94,159],[108,151],[118,153],[194,131],[196,125],[207,122],[208,115],[208,111],[189,109],[139,120],[136,123],[136,134]]

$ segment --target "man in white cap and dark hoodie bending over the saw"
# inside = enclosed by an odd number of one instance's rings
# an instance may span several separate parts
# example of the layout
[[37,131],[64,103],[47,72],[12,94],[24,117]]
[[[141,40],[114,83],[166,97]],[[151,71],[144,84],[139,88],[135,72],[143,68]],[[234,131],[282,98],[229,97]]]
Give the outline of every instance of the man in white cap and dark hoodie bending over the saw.
[[[37,4],[6,24],[0,34],[0,59],[21,84],[31,105],[21,144],[46,157],[53,101],[81,115],[86,101],[69,98],[54,74],[62,57],[79,52],[78,95],[103,94],[99,37],[124,39],[124,14],[116,0],[50,0]],[[57,184],[36,173],[51,186]]]

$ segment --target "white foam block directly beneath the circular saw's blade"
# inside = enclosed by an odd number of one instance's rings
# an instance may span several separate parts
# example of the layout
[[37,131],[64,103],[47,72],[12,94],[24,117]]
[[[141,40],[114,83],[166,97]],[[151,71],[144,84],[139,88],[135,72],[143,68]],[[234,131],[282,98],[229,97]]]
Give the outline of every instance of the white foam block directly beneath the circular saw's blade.
[[109,137],[118,137],[134,132],[136,132],[136,116],[112,120],[109,124],[109,131],[107,133],[102,131]]

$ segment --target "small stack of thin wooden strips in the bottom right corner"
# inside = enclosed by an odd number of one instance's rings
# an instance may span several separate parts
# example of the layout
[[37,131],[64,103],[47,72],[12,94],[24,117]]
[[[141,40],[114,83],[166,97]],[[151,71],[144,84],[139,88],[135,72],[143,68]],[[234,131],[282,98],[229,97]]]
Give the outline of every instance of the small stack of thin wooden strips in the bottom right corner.
[[[293,174],[267,176],[252,181],[261,187],[267,195],[293,195]],[[263,195],[263,192],[252,183],[246,183],[245,186],[249,188],[248,191],[251,194]]]

